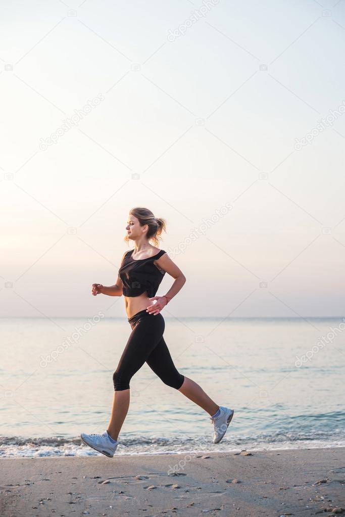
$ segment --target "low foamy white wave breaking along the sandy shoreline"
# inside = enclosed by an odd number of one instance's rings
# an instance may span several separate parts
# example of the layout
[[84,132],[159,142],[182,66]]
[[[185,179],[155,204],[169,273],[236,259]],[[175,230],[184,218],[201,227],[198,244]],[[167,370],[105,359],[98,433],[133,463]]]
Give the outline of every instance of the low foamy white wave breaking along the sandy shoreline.
[[[344,447],[343,432],[310,433],[298,430],[275,433],[260,433],[252,436],[225,436],[221,444],[214,445],[210,435],[189,437],[185,435],[164,438],[159,436],[131,436],[119,439],[117,455],[137,454],[183,454],[201,452],[252,450],[277,450],[301,448]],[[50,457],[94,456],[97,451],[87,447],[78,437],[0,436],[0,457]]]

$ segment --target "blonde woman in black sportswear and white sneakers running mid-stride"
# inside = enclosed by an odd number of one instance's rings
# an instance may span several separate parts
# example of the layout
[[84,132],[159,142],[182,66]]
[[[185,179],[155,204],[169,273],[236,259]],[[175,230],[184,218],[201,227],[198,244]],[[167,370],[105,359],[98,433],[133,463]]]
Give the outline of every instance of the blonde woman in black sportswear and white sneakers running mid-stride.
[[[165,220],[155,218],[147,208],[132,208],[124,240],[127,244],[132,240],[134,249],[123,254],[115,285],[106,287],[92,284],[93,296],[124,296],[132,329],[113,374],[115,392],[108,427],[102,434],[81,434],[86,445],[108,458],[114,456],[118,436],[128,413],[131,378],[145,362],[164,384],[183,393],[210,415],[214,444],[221,441],[233,416],[232,409],[218,406],[198,384],[176,369],[163,339],[165,321],[161,311],[186,281],[182,271],[167,253],[150,244],[150,241],[155,246],[160,244],[158,237],[162,230],[165,231],[165,227]],[[175,281],[166,295],[155,296],[166,272]]]

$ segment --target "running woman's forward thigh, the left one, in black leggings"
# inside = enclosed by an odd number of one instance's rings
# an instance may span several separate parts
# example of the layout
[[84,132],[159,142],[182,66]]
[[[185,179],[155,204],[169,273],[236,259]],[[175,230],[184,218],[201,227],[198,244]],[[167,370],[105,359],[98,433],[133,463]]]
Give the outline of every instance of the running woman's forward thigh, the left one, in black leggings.
[[116,371],[122,375],[133,376],[162,339],[164,327],[164,318],[161,314],[149,314],[140,319],[134,325]]

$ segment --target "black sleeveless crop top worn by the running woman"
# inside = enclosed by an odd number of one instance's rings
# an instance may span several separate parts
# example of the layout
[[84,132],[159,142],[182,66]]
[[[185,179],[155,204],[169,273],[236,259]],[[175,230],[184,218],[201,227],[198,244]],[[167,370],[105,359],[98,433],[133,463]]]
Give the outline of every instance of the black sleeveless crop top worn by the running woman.
[[122,293],[124,296],[139,296],[147,291],[148,297],[155,296],[158,287],[165,275],[164,269],[153,264],[164,253],[159,251],[152,257],[136,260],[132,258],[134,250],[124,255],[119,269],[118,277],[122,282]]

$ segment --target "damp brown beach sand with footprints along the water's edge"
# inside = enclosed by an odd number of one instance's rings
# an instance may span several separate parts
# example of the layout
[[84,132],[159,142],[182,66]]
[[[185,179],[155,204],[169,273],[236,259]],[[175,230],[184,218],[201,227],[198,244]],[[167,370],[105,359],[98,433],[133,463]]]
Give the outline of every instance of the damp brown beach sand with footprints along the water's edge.
[[345,506],[345,448],[2,458],[0,472],[2,517],[304,517]]

